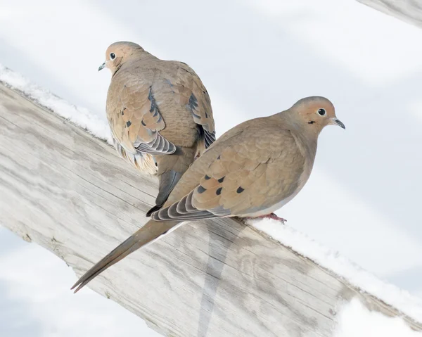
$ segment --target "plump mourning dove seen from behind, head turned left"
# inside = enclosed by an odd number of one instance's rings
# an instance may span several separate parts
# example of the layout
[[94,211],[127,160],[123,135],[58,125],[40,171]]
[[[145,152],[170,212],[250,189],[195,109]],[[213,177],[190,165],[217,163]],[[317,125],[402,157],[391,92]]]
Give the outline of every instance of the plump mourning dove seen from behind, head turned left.
[[107,118],[117,153],[159,179],[155,207],[167,200],[194,158],[215,141],[210,96],[186,63],[162,61],[132,42],[116,42],[98,70],[112,73]]

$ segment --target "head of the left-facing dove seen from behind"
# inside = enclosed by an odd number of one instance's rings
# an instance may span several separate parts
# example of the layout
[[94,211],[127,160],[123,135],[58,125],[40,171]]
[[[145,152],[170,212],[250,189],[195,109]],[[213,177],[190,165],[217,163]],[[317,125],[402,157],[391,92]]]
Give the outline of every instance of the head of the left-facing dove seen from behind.
[[128,58],[133,56],[135,53],[143,51],[139,44],[133,42],[115,42],[111,44],[106,50],[106,61],[100,65],[98,71],[108,68],[111,73],[114,74],[120,66],[127,61]]

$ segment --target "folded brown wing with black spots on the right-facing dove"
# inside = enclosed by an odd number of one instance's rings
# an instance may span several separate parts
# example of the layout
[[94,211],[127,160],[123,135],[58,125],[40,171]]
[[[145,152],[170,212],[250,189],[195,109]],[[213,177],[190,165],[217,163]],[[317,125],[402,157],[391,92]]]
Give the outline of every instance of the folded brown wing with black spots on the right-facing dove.
[[222,136],[198,158],[153,219],[252,215],[298,191],[305,156],[290,131],[265,119],[248,125],[237,133],[232,129],[232,136]]

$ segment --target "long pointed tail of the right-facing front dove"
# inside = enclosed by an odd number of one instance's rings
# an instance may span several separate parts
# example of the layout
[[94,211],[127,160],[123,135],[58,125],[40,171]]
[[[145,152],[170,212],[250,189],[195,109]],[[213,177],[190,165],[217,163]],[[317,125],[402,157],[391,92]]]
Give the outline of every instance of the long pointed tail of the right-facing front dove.
[[160,236],[164,236],[172,229],[177,227],[179,222],[156,222],[154,220],[148,221],[141,229],[129,236],[123,243],[120,243],[115,249],[103,257],[100,262],[96,263],[94,267],[88,270],[77,282],[72,286],[72,289],[77,287],[75,293],[83,286],[94,279],[98,274],[101,274],[108,267],[114,265],[116,262],[122,260],[136,249],[139,249],[146,244],[151,243]]

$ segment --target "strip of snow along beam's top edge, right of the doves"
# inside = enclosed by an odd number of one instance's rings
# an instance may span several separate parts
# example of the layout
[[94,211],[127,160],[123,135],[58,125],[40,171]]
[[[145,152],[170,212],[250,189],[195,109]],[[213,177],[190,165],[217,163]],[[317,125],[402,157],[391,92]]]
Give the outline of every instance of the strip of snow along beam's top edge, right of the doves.
[[279,221],[270,219],[248,220],[248,224],[260,231],[264,231],[271,238],[279,241],[284,246],[292,248],[300,255],[308,257],[321,267],[330,269],[335,274],[342,276],[350,284],[357,286],[362,291],[371,293],[416,321],[422,322],[422,298],[412,296],[408,291],[378,279],[347,259],[347,257],[340,255],[335,250],[324,247],[287,224],[283,225]]

